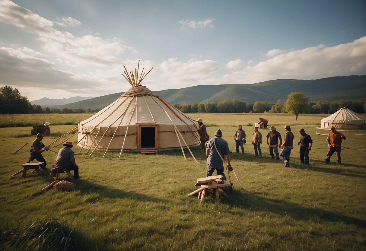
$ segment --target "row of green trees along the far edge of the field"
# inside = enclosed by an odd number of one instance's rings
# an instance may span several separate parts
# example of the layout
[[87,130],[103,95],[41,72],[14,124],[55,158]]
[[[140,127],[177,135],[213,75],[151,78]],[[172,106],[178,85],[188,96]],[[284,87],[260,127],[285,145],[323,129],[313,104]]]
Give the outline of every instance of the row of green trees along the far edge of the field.
[[[239,100],[223,100],[218,103],[173,104],[184,113],[210,112],[210,113],[290,113],[295,114],[296,120],[302,113],[335,113],[340,108],[346,107],[356,113],[365,113],[365,100],[335,100],[335,101],[309,101],[309,98],[301,93],[294,92],[287,96],[287,100],[274,102],[254,103]],[[10,86],[0,88],[0,113],[85,113],[98,112],[100,109],[77,108],[58,109],[42,108],[40,105],[31,105],[27,97],[20,95],[19,90]]]

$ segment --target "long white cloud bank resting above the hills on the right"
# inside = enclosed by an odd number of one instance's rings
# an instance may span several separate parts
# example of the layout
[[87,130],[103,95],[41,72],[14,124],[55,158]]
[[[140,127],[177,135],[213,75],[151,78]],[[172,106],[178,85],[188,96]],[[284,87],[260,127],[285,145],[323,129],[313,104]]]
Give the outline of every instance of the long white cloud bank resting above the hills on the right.
[[318,45],[277,55],[253,67],[231,72],[216,83],[257,83],[273,79],[319,79],[365,75],[366,37],[332,47]]

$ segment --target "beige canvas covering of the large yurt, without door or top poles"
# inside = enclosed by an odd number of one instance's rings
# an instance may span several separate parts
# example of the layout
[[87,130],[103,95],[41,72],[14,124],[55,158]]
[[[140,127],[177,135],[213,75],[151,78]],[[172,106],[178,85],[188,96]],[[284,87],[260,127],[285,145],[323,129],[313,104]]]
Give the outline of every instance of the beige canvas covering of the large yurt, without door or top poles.
[[[137,150],[139,124],[158,125],[158,149],[180,147],[173,124],[188,146],[198,146],[200,143],[197,135],[198,124],[194,119],[161,101],[156,95],[127,95],[121,96],[111,105],[79,123],[78,146],[94,148],[98,145],[98,149],[108,147],[108,150],[120,151],[124,142],[123,150]],[[181,138],[180,141],[185,147]]]

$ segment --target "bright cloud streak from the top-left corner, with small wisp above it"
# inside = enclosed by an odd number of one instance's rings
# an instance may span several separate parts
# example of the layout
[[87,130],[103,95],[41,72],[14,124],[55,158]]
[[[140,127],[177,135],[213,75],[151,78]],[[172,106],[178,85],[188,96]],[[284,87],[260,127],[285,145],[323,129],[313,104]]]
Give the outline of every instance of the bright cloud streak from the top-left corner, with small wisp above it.
[[[57,30],[51,20],[42,18],[11,1],[0,1],[0,21],[21,27],[28,33],[37,34],[44,42],[45,50],[55,53],[66,62],[71,61],[74,66],[91,64],[107,67],[111,64],[120,64],[116,56],[123,53],[124,48],[134,50],[133,47],[123,46],[116,38],[107,41],[93,35],[75,37],[66,31]],[[65,17],[62,21],[65,25],[81,24],[71,17]]]

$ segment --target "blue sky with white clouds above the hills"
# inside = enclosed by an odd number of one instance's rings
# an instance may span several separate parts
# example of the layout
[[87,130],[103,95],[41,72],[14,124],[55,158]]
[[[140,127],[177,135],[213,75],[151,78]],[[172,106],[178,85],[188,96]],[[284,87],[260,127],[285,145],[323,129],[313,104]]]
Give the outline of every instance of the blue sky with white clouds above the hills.
[[0,86],[29,101],[366,74],[365,0],[0,0]]

